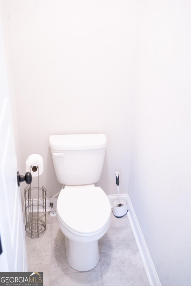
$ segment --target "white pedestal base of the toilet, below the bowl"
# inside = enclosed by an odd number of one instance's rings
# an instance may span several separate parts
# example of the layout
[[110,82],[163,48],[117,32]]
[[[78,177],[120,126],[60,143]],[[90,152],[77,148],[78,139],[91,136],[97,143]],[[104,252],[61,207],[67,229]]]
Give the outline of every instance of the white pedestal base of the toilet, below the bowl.
[[98,240],[76,242],[65,236],[66,258],[70,266],[77,271],[93,269],[99,262]]

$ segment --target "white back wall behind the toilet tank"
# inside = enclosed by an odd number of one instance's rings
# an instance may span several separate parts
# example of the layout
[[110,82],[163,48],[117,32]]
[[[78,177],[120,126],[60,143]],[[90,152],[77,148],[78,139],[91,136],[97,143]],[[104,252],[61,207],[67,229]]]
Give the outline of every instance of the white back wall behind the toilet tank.
[[[3,1],[21,150],[44,158],[40,182],[58,192],[49,135],[105,133],[106,194],[127,192],[135,7],[120,1]],[[34,180],[34,184],[37,184]]]

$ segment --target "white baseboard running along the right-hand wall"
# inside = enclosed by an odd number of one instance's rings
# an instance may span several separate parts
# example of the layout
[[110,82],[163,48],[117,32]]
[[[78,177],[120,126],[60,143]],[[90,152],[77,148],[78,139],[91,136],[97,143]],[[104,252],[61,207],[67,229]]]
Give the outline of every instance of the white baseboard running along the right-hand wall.
[[161,282],[158,278],[155,266],[153,264],[153,260],[150,256],[147,244],[144,240],[143,233],[141,231],[140,225],[135,215],[133,205],[128,195],[127,195],[127,208],[128,208],[127,217],[129,219],[133,235],[135,237],[135,241],[144,265],[145,272],[147,274],[149,284],[150,286],[161,286]]

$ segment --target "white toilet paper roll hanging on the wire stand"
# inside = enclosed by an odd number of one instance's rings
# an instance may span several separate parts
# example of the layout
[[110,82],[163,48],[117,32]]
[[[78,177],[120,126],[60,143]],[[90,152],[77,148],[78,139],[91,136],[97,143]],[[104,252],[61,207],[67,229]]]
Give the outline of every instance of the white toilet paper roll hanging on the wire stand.
[[26,172],[31,172],[32,177],[37,177],[38,168],[39,168],[39,175],[41,175],[43,172],[42,156],[38,154],[32,154],[28,156],[26,161]]

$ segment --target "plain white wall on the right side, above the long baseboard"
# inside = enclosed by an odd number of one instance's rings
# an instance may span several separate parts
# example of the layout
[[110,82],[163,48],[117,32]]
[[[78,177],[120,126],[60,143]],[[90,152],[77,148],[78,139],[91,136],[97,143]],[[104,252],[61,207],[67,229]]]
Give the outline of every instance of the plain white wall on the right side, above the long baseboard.
[[191,3],[140,9],[129,197],[162,286],[191,283]]

